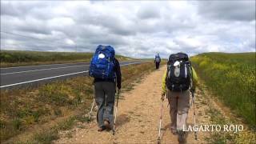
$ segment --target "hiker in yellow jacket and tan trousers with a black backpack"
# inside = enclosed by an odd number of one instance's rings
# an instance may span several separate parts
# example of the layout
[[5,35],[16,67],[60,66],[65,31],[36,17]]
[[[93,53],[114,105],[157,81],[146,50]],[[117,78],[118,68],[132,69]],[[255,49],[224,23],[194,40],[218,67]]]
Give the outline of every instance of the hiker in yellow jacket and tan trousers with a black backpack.
[[184,53],[170,54],[167,70],[162,77],[162,102],[166,95],[170,104],[170,130],[172,134],[178,134],[179,143],[186,142],[183,129],[186,130],[186,119],[190,108],[190,92],[194,105],[194,90],[197,84],[198,76],[190,64],[188,55]]

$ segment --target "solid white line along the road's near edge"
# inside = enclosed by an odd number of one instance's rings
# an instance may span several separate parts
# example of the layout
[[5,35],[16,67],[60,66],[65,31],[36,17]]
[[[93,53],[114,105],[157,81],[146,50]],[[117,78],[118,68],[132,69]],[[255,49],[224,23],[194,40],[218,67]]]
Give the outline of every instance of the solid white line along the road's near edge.
[[[145,62],[150,62],[150,61],[145,61]],[[138,63],[144,63],[144,62],[127,63],[127,64],[123,64],[121,66],[133,65],[133,64],[138,64]],[[10,84],[10,85],[0,86],[0,88],[9,87],[9,86],[17,86],[17,85],[21,85],[21,84],[25,84],[25,83],[30,83],[30,82],[38,82],[38,81],[42,81],[42,80],[46,80],[46,79],[51,79],[51,78],[60,78],[60,77],[68,76],[68,75],[81,74],[81,73],[86,73],[88,71],[89,70],[80,71],[80,72],[71,73],[71,74],[62,74],[62,75],[58,75],[58,76],[54,76],[54,77],[48,77],[48,78],[40,78],[40,79],[35,79],[35,80],[31,80],[31,81],[26,81],[26,82],[18,82],[18,83],[14,83],[14,84]]]

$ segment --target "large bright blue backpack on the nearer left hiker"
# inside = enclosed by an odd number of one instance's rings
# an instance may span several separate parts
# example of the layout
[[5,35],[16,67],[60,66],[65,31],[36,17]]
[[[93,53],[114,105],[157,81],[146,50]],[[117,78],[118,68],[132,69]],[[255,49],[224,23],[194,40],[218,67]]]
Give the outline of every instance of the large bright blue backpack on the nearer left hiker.
[[99,45],[90,61],[89,75],[94,78],[114,79],[114,48]]

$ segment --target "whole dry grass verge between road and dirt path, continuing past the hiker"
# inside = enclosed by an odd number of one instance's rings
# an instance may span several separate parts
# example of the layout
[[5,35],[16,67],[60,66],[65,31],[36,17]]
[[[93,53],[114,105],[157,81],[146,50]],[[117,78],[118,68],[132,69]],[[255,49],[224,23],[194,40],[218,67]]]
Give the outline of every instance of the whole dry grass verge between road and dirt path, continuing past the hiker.
[[[122,90],[131,90],[135,80],[154,70],[154,63],[122,66],[121,69]],[[17,142],[15,136],[18,134],[18,141],[23,141],[32,133],[33,142],[49,143],[58,138],[58,130],[70,129],[76,122],[86,122],[83,115],[88,113],[94,98],[92,84],[93,78],[80,76],[34,88],[2,90],[1,142]],[[60,118],[63,120],[58,121]],[[55,121],[57,125],[47,126]],[[41,130],[38,126],[47,128]]]

